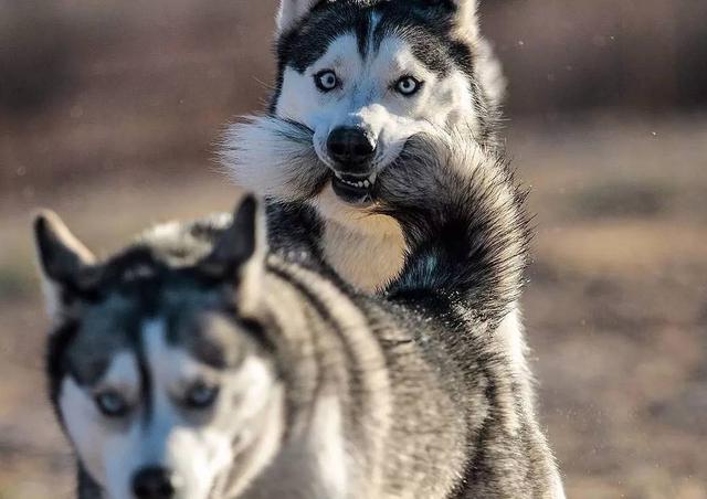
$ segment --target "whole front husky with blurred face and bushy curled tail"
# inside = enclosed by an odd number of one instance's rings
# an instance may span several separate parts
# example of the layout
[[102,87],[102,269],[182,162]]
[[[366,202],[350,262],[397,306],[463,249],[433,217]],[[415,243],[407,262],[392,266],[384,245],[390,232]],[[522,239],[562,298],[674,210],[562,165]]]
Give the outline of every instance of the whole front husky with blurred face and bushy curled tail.
[[250,197],[102,262],[38,217],[82,499],[563,497],[489,333],[523,283],[523,195],[481,151],[419,151],[377,182],[410,247],[377,297],[305,244],[267,251]]

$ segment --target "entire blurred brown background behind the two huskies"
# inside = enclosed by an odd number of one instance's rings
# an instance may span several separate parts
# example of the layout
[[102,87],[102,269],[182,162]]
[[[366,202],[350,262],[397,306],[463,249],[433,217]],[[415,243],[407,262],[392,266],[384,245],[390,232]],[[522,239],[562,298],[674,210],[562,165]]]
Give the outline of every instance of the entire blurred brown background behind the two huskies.
[[[72,497],[45,403],[31,212],[98,251],[228,210],[275,1],[0,0],[0,499]],[[532,187],[525,297],[571,498],[707,498],[707,2],[486,0]]]

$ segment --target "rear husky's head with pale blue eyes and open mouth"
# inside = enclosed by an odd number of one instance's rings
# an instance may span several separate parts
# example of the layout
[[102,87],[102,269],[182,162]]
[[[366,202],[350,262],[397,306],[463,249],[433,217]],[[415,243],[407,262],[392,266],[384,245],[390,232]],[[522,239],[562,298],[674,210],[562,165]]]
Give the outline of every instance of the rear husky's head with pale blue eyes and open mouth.
[[[371,201],[407,141],[434,129],[482,137],[474,1],[284,0],[273,113],[313,130],[333,193]],[[486,104],[485,104],[486,103]]]

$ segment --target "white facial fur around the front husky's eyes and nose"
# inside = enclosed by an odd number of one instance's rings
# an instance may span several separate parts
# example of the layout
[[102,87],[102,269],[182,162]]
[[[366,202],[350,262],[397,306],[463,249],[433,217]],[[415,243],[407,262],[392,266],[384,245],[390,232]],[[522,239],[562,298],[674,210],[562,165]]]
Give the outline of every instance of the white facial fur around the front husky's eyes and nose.
[[[61,385],[59,404],[67,433],[87,473],[102,484],[109,498],[131,498],[133,475],[144,466],[156,465],[166,466],[180,477],[182,497],[210,497],[217,479],[253,445],[257,435],[251,428],[263,424],[272,432],[272,439],[277,439],[281,431],[278,420],[267,418],[281,408],[268,406],[274,376],[266,363],[253,357],[224,374],[199,363],[182,348],[167,344],[166,333],[166,325],[159,319],[144,323],[141,344],[150,370],[149,401],[141,400],[145,386],[140,364],[136,352],[129,350],[115,352],[105,374],[91,390],[72,378]],[[201,417],[190,417],[172,400],[194,380],[209,380],[222,387],[221,403],[209,415],[208,425],[199,425]],[[122,393],[137,405],[129,422],[116,423],[98,413],[93,394],[106,390]],[[229,399],[242,403],[233,406]],[[155,417],[146,414],[148,411]],[[243,436],[238,446],[234,435]],[[270,456],[267,447],[258,445],[264,460]],[[245,480],[252,478],[247,468],[241,471]]]

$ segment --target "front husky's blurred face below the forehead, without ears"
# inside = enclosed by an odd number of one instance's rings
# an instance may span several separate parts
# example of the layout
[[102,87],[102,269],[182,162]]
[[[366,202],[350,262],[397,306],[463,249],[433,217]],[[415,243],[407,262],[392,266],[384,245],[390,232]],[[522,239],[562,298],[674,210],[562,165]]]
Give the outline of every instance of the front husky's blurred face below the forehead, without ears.
[[[104,310],[94,314],[106,320]],[[247,333],[218,314],[184,319],[143,321],[133,338],[110,340],[123,346],[106,346],[99,325],[86,320],[66,352],[72,374],[61,383],[62,418],[110,498],[221,497],[233,463],[258,445],[258,426],[276,424],[268,418],[275,379]],[[102,335],[119,337],[124,322],[109,320],[115,326]],[[224,349],[228,363],[209,358]]]

